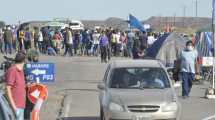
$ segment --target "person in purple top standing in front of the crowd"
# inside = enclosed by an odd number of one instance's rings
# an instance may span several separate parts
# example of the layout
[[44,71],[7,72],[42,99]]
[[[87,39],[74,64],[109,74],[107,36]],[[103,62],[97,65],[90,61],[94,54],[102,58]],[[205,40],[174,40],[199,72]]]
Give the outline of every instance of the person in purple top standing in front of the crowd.
[[108,37],[105,32],[102,32],[102,36],[100,38],[100,50],[101,50],[101,62],[107,62],[107,52],[108,52]]

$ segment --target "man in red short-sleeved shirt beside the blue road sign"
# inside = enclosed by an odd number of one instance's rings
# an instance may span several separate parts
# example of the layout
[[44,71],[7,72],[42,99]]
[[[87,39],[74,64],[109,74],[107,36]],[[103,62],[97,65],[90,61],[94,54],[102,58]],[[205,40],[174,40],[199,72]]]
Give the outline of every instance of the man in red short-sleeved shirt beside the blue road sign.
[[23,67],[25,64],[25,53],[19,52],[15,57],[15,64],[5,74],[6,94],[9,102],[16,113],[17,120],[24,120],[24,109],[26,103],[25,77]]

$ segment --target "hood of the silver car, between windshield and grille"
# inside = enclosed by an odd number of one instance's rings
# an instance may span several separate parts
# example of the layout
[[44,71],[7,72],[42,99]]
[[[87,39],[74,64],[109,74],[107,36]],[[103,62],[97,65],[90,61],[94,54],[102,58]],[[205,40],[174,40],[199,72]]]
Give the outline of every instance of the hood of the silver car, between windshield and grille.
[[172,89],[111,89],[111,101],[124,105],[162,104],[173,100]]

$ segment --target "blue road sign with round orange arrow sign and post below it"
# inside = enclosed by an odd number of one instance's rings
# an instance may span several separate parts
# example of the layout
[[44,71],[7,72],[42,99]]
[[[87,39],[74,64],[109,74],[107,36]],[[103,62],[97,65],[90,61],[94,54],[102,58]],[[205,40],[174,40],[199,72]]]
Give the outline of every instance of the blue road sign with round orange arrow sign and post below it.
[[53,63],[28,63],[25,72],[28,82],[32,83],[28,86],[28,99],[34,104],[31,120],[39,120],[40,109],[48,97],[47,86],[43,84],[55,81],[55,66]]

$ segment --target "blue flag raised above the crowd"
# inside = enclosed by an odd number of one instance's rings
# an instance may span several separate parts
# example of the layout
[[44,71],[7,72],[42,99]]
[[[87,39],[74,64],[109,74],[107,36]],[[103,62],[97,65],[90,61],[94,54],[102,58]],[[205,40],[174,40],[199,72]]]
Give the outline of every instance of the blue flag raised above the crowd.
[[145,28],[143,27],[142,23],[133,15],[129,15],[129,23],[131,27],[137,28],[142,32],[145,32]]

